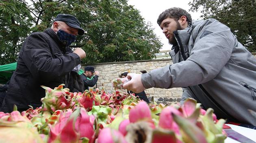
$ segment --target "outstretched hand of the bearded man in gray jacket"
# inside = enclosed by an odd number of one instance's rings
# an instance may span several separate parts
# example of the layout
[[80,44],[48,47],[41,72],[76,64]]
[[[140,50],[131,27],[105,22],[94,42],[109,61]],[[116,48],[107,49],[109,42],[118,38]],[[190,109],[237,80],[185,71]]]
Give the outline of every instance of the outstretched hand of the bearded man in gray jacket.
[[135,93],[141,93],[146,89],[141,82],[141,74],[129,73],[126,78],[130,81],[123,85],[125,89],[132,90]]

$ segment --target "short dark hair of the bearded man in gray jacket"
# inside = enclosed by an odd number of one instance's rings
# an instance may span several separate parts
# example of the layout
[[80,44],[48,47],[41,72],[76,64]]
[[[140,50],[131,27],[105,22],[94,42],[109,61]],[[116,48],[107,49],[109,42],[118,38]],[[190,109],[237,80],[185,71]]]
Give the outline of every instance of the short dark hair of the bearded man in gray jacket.
[[181,16],[185,16],[187,18],[188,23],[192,22],[191,15],[187,11],[185,11],[182,8],[173,7],[165,10],[158,16],[157,24],[160,26],[162,21],[167,18],[173,18],[177,21]]

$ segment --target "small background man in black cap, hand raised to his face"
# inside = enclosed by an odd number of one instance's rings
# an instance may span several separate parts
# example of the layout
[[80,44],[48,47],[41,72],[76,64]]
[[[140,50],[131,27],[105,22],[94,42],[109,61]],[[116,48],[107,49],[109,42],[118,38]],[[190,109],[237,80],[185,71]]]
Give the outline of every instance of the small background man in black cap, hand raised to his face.
[[[95,76],[93,76],[93,73],[95,73]],[[89,87],[93,87],[97,83],[99,71],[94,71],[94,67],[89,65],[85,67],[85,72],[80,76],[82,77],[82,80],[84,82],[85,90],[89,90]],[[91,80],[87,79],[91,78],[92,76],[93,78]]]

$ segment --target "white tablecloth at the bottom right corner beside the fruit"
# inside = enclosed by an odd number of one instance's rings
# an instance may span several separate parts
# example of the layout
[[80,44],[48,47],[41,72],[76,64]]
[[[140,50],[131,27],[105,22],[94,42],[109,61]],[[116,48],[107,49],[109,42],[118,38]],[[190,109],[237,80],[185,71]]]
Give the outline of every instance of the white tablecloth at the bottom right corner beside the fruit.
[[[242,126],[236,126],[236,125],[232,125],[232,124],[227,124],[227,125],[230,126],[232,128],[232,130],[234,130],[234,131],[240,133],[241,135],[244,135],[245,137],[256,142],[256,130],[250,129],[250,128],[245,128]],[[225,139],[224,143],[240,143],[240,142],[227,137],[227,139]]]

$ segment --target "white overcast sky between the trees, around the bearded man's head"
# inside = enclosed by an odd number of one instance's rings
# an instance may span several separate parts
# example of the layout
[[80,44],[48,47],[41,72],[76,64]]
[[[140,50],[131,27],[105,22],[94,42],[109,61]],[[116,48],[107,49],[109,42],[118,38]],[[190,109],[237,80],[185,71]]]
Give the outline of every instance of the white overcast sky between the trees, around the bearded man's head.
[[161,50],[170,50],[171,46],[168,43],[167,38],[162,32],[162,29],[156,23],[158,15],[161,14],[165,9],[171,7],[180,7],[188,11],[191,14],[193,20],[200,19],[200,12],[192,13],[189,11],[189,2],[193,0],[128,0],[128,4],[133,5],[136,9],[141,12],[141,16],[145,21],[150,21],[156,36],[158,36],[163,43]]

